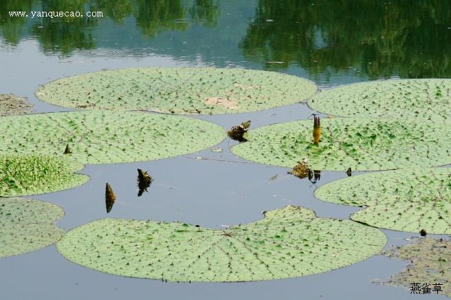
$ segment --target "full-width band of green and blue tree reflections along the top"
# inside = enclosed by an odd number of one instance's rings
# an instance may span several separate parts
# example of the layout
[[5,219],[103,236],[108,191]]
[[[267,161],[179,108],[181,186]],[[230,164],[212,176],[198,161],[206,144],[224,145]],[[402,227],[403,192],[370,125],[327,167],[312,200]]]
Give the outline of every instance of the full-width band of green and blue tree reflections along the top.
[[[8,15],[31,10],[104,17]],[[1,0],[0,32],[10,45],[32,38],[45,54],[62,56],[140,50],[218,66],[297,68],[292,73],[314,80],[451,75],[449,0]]]

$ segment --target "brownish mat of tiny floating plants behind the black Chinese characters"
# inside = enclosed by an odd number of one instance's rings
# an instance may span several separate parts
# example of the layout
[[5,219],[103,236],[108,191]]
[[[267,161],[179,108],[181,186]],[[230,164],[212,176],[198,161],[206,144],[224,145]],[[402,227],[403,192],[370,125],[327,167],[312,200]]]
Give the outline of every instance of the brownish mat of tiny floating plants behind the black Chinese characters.
[[[386,255],[410,260],[407,268],[391,277],[386,282],[387,285],[404,286],[412,294],[426,292],[451,297],[450,240],[420,238],[417,243],[398,246],[387,251]],[[414,286],[413,283],[417,285]]]

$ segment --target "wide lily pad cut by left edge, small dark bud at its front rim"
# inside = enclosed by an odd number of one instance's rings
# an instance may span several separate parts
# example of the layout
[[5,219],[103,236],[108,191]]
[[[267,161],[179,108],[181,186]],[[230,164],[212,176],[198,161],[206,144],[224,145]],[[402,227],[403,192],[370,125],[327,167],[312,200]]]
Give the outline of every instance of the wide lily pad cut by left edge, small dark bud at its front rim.
[[218,144],[219,125],[142,112],[72,111],[0,119],[3,154],[63,155],[83,164],[170,158]]

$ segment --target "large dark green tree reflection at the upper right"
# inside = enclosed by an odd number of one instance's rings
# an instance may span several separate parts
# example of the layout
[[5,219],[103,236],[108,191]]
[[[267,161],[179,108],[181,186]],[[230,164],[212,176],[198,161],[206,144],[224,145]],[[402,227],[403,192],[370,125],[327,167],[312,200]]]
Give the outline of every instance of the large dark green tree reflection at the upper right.
[[451,2],[260,0],[241,42],[267,69],[300,65],[315,76],[348,72],[380,78],[451,75]]

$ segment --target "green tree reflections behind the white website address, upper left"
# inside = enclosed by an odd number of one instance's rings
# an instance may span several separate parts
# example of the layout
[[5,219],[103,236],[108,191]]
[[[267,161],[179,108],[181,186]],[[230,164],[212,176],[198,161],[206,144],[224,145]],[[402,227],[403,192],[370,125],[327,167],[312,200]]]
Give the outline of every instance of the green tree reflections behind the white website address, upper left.
[[[14,11],[81,12],[84,17],[10,17]],[[103,17],[87,17],[86,12],[102,12]],[[219,2],[213,0],[2,0],[0,31],[12,45],[33,36],[43,52],[69,55],[98,47],[93,31],[107,19],[124,25],[131,17],[136,27],[126,30],[140,30],[142,39],[150,39],[167,30],[184,31],[190,23],[214,27],[218,16]]]

